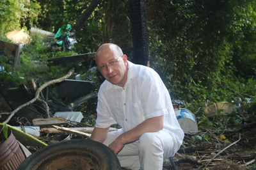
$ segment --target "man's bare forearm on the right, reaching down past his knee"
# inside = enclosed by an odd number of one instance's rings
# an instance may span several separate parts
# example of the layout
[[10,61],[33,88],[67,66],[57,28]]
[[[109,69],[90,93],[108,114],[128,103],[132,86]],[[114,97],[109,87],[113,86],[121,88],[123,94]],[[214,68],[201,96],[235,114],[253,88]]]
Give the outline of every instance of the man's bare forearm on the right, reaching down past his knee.
[[120,150],[122,150],[125,143],[137,141],[140,139],[141,135],[147,132],[158,132],[159,130],[163,129],[163,125],[164,116],[149,118],[132,130],[129,130],[117,137],[113,143],[109,144],[109,148],[113,150],[115,154],[117,154]]

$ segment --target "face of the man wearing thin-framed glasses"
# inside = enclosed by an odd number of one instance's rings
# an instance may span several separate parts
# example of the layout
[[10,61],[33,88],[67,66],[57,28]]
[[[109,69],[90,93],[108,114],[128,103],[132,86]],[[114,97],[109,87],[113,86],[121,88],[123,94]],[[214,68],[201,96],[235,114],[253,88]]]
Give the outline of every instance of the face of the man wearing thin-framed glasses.
[[127,56],[122,56],[113,66],[108,65],[111,61],[116,61],[118,58],[120,58],[120,56],[117,54],[102,50],[97,56],[97,65],[99,67],[107,65],[106,68],[101,69],[103,77],[112,84],[124,87],[127,81]]

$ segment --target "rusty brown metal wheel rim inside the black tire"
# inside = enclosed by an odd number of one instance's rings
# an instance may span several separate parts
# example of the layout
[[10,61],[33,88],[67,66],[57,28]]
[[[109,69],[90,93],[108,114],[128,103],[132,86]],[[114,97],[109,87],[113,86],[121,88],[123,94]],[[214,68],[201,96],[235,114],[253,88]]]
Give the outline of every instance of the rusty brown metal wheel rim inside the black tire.
[[104,169],[105,163],[95,153],[88,150],[68,149],[56,151],[33,166],[32,170],[99,170]]

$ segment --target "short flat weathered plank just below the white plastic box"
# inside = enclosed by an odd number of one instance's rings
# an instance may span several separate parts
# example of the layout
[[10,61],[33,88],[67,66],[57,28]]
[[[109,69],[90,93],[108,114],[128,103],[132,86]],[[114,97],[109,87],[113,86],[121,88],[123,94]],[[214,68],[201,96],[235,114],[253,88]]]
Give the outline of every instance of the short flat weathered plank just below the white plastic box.
[[33,124],[37,126],[47,126],[47,125],[65,125],[68,124],[67,120],[61,118],[47,118],[47,119],[34,119]]

